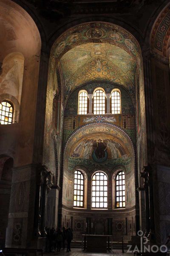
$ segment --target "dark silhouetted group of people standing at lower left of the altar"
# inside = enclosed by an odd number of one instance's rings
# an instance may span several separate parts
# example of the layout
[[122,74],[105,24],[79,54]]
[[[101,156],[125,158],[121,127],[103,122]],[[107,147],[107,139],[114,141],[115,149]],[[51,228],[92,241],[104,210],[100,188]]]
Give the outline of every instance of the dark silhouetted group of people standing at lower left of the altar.
[[57,250],[59,252],[61,250],[61,247],[63,250],[65,249],[65,244],[67,243],[67,252],[71,251],[71,240],[73,239],[73,230],[69,227],[66,229],[65,227],[62,227],[62,230],[60,228],[57,228],[56,230],[54,227],[46,228],[47,232],[47,244],[46,244],[46,251],[52,252]]

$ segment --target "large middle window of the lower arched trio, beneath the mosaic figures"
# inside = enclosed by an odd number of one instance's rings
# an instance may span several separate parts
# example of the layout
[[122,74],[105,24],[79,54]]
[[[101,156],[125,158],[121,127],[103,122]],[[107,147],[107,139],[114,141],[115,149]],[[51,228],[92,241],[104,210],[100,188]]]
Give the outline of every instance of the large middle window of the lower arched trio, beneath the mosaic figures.
[[108,177],[103,172],[92,177],[91,208],[108,208]]

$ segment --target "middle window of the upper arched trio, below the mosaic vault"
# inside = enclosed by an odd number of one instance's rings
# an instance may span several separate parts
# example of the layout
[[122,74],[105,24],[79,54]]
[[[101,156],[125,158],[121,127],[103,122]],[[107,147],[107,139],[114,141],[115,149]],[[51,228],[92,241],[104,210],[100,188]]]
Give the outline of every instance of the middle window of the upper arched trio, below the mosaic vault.
[[105,92],[101,89],[94,91],[93,110],[94,114],[105,114]]

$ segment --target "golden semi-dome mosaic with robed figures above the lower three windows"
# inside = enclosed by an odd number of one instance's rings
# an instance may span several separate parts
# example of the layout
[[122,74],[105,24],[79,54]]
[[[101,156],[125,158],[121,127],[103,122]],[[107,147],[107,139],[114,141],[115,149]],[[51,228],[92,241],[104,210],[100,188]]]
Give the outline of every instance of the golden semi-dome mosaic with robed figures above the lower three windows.
[[115,165],[133,169],[134,150],[130,137],[116,125],[88,124],[74,132],[65,145],[64,166],[68,171],[81,164],[94,168]]

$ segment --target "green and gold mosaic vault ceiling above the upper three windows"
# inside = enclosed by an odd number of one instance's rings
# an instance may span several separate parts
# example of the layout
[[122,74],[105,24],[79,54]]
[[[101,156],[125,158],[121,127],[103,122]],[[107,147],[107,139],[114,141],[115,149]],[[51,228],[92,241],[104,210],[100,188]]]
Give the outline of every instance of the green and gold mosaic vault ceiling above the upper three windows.
[[60,60],[66,95],[88,81],[112,81],[133,88],[136,58],[125,49],[108,43],[74,47]]

